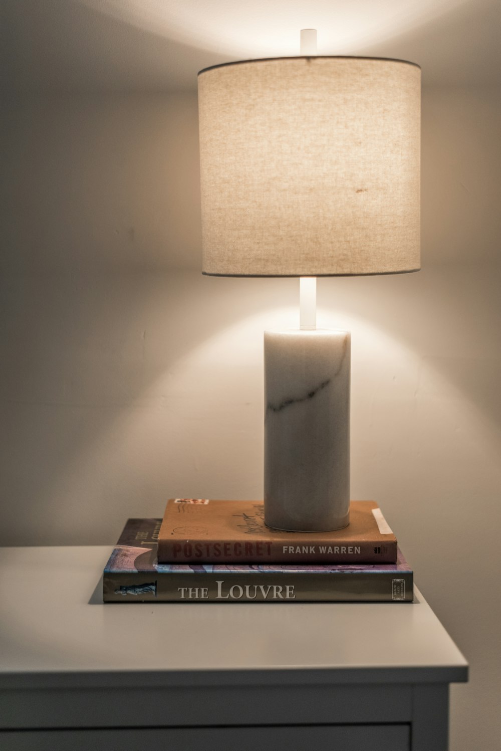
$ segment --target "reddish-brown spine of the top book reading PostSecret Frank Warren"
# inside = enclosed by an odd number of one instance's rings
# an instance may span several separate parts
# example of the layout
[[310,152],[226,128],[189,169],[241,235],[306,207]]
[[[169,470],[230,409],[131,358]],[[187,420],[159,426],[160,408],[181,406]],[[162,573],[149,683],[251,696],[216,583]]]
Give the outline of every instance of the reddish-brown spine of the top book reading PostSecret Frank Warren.
[[284,544],[270,541],[158,540],[160,563],[395,563],[397,541],[352,544]]

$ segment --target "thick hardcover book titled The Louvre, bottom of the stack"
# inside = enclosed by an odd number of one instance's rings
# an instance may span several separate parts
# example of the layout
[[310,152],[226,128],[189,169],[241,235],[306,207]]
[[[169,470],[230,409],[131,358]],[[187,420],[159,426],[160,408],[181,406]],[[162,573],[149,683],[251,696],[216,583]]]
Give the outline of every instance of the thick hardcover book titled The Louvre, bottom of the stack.
[[413,571],[396,563],[162,564],[160,519],[129,519],[104,569],[104,602],[412,602]]

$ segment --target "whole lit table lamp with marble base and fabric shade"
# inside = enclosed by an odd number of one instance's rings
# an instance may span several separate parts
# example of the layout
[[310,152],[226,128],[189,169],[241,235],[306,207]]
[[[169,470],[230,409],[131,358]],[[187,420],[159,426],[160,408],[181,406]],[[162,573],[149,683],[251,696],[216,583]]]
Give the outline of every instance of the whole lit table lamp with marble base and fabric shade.
[[419,65],[302,55],[199,73],[202,273],[300,277],[300,326],[265,332],[265,522],[350,511],[350,333],[317,329],[317,276],[419,270]]

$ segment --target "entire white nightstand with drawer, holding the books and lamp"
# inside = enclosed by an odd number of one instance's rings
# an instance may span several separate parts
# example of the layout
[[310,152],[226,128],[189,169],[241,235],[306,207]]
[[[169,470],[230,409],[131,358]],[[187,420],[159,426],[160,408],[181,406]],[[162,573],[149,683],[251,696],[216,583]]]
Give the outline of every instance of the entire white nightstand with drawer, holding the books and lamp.
[[107,604],[111,547],[0,549],[2,751],[445,751],[467,664],[412,604]]

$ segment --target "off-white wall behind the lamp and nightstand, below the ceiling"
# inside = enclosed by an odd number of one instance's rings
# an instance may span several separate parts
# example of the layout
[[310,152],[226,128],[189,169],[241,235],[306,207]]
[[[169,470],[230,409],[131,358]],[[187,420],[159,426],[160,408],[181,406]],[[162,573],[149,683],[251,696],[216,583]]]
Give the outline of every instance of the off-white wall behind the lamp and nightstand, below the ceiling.
[[[199,273],[195,95],[13,99],[0,128],[0,544],[262,496],[262,334],[298,285]],[[500,128],[499,90],[425,91],[422,271],[318,293],[353,336],[352,496],[472,665],[452,751],[501,737]]]

